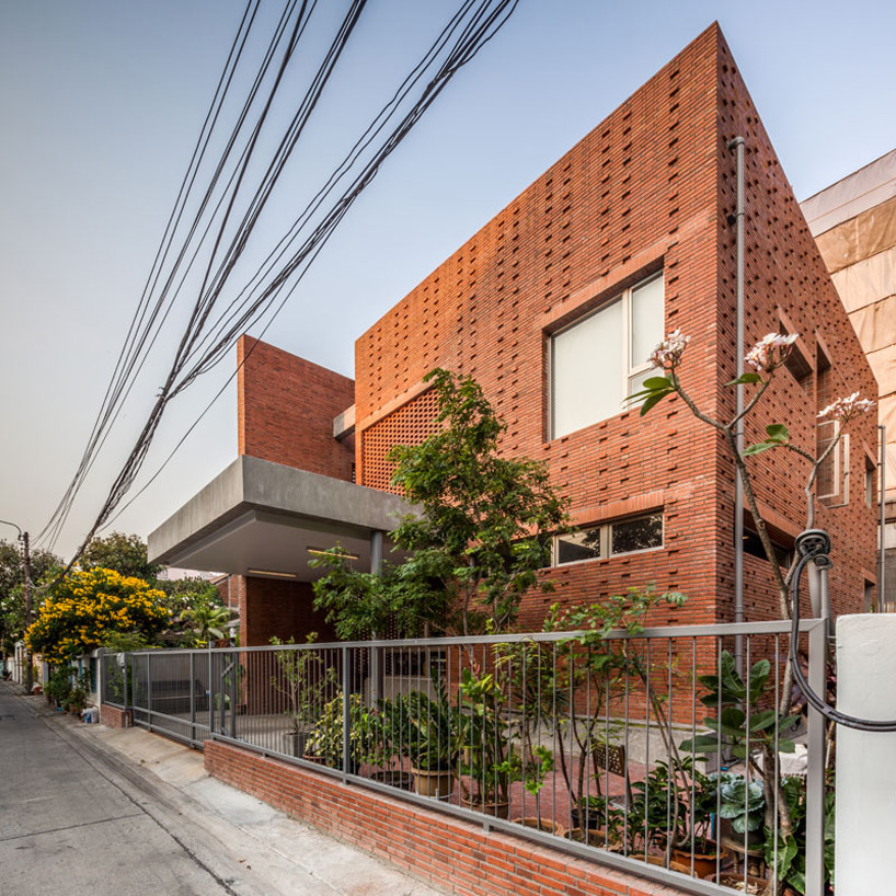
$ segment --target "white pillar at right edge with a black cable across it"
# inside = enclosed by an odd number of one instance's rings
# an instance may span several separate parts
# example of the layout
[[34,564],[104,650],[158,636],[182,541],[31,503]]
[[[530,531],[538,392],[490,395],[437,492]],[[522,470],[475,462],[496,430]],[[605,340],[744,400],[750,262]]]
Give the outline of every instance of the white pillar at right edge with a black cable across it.
[[[837,620],[837,709],[896,719],[896,616]],[[837,896],[893,893],[896,733],[837,728]]]

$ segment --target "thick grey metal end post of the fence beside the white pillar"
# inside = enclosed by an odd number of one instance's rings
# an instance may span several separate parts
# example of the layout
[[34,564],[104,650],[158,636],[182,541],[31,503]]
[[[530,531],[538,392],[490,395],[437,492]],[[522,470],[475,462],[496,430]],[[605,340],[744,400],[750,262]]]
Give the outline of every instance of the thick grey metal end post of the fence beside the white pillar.
[[[808,684],[825,693],[826,627],[808,633]],[[793,662],[799,662],[793,657]],[[806,771],[806,894],[824,892],[825,882],[825,719],[808,705],[808,768]]]

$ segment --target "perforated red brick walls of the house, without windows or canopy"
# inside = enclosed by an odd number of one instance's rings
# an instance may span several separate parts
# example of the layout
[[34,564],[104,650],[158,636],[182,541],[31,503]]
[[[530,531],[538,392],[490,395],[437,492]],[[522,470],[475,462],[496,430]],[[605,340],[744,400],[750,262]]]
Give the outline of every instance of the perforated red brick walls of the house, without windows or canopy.
[[[664,516],[659,549],[545,571],[556,591],[524,604],[524,628],[540,624],[549,601],[590,601],[648,583],[690,596],[668,621],[730,621],[733,463],[722,439],[678,399],[646,417],[624,411],[551,438],[549,343],[560,328],[662,272],[664,331],[691,336],[686,388],[708,413],[733,413],[734,393],[724,387],[735,375],[735,159],[727,145],[737,135],[746,142],[746,344],[796,330],[808,364],[799,380],[780,371],[747,440],[768,423],[785,423],[795,443],[814,449],[823,393],[872,395],[876,388],[713,25],[357,340],[354,391],[345,378],[256,344],[240,376],[240,451],[346,479],[352,447],[333,439],[332,421],[354,401],[357,481],[388,489],[389,448],[418,441],[432,421],[423,377],[447,367],[481,383],[507,423],[505,452],[548,464],[576,525],[645,510]],[[241,343],[241,358],[250,344]],[[831,361],[823,376],[819,357]],[[815,520],[834,539],[831,595],[840,612],[861,610],[874,582],[875,510],[861,487],[873,426],[869,416],[850,427],[850,502],[820,507]],[[805,526],[806,466],[782,450],[750,463],[763,516],[789,547]],[[748,555],[745,576],[747,619],[778,618],[767,562]],[[262,642],[253,634],[252,643]]]

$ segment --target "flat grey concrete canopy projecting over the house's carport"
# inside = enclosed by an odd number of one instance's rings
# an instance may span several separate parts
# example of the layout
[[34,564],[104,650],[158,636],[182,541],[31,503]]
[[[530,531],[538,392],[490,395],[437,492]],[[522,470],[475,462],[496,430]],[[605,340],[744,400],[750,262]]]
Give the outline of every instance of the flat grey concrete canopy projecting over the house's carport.
[[[370,568],[370,537],[413,505],[280,463],[241,456],[149,536],[151,563],[311,582],[310,550],[342,544]],[[388,555],[391,543],[384,539]]]

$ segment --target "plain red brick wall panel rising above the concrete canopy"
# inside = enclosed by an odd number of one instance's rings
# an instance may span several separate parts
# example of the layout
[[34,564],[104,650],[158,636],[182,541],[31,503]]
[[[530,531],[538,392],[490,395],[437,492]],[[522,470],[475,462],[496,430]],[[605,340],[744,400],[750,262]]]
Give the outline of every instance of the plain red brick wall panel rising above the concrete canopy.
[[354,382],[250,336],[237,355],[240,453],[351,481],[354,439],[334,439],[333,418],[354,403]]

